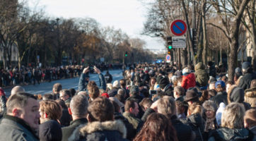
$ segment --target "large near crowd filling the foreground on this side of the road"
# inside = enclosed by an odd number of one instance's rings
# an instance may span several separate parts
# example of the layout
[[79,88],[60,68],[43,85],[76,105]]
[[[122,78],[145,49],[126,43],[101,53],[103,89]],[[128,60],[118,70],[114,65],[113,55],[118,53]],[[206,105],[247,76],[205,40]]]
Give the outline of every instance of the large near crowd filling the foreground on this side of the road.
[[256,73],[248,62],[234,78],[218,69],[143,63],[112,81],[94,66],[96,85],[88,66],[77,91],[0,89],[0,140],[256,140]]

